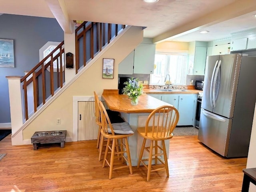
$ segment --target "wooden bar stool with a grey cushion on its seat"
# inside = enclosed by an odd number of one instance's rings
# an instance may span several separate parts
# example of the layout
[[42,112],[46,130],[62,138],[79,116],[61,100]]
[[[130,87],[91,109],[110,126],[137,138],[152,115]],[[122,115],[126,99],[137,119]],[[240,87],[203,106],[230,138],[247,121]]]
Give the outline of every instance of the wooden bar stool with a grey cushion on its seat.
[[[107,138],[107,145],[104,154],[103,160],[103,168],[106,166],[106,163],[110,167],[109,169],[109,179],[112,178],[112,171],[116,169],[126,168],[129,167],[130,174],[132,174],[132,162],[130,157],[130,150],[128,144],[128,137],[134,134],[132,128],[130,127],[128,122],[122,123],[114,123],[111,124],[106,109],[102,102],[99,102],[100,108],[100,118],[101,118],[101,134],[105,138]],[[101,140],[103,142],[103,140]],[[118,150],[120,147],[120,150]],[[115,151],[115,149],[117,150]],[[107,159],[108,157],[108,150],[111,151],[110,161]],[[126,153],[126,156],[124,154]],[[117,155],[117,157],[115,157]],[[114,168],[114,159],[122,159],[122,163],[127,163],[128,165],[119,166]]]

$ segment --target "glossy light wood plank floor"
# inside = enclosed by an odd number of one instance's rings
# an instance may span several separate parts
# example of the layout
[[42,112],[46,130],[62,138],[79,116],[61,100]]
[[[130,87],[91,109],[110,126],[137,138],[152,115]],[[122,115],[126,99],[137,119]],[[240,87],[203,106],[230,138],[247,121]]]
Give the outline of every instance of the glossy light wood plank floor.
[[67,142],[33,150],[32,145],[11,146],[10,135],[0,141],[0,192],[238,192],[247,158],[225,159],[203,146],[197,136],[174,136],[170,141],[169,170],[146,168],[115,170],[98,161],[96,140]]

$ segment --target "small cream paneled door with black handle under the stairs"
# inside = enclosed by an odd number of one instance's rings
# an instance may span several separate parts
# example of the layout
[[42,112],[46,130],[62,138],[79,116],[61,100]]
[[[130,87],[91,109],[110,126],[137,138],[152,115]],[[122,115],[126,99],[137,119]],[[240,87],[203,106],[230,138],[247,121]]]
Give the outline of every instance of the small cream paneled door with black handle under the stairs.
[[97,139],[94,111],[94,101],[78,102],[78,141]]

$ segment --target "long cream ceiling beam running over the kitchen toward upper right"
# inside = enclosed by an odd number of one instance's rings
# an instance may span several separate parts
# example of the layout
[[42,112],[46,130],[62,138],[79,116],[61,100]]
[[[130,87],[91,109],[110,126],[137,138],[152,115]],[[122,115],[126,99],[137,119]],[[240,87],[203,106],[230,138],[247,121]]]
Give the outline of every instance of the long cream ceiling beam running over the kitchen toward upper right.
[[[154,43],[160,43],[167,39],[177,38],[179,36],[200,30],[207,26],[212,26],[256,10],[255,0],[238,0],[232,4],[224,6],[218,10],[210,12],[196,20],[187,22],[177,28],[169,30],[153,38]],[[239,24],[238,24],[239,25]]]

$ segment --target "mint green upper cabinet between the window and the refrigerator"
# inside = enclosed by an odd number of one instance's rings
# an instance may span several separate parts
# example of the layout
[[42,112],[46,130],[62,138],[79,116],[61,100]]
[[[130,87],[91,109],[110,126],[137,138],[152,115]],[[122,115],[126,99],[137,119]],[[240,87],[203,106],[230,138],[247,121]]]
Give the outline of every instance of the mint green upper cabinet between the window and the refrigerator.
[[206,52],[207,42],[195,41],[189,43],[188,74],[204,75]]

